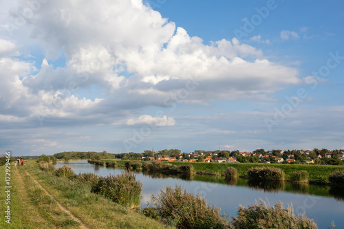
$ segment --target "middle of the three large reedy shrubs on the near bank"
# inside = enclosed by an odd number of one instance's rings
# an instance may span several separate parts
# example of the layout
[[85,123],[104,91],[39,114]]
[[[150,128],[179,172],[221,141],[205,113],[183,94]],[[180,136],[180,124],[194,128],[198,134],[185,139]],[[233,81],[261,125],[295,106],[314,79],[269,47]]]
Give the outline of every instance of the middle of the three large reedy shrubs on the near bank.
[[211,208],[206,199],[192,195],[180,186],[166,187],[153,197],[157,214],[166,223],[177,228],[225,228],[226,221],[219,208]]

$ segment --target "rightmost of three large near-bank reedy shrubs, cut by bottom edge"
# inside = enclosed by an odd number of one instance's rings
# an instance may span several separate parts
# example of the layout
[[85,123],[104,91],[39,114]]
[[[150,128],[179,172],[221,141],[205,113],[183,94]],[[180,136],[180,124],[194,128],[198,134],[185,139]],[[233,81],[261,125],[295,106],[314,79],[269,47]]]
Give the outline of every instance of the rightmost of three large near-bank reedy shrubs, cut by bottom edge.
[[259,204],[252,204],[245,208],[239,206],[237,215],[232,221],[233,228],[317,228],[313,219],[305,215],[294,215],[292,207],[283,208],[281,202],[274,207],[266,206],[260,200]]

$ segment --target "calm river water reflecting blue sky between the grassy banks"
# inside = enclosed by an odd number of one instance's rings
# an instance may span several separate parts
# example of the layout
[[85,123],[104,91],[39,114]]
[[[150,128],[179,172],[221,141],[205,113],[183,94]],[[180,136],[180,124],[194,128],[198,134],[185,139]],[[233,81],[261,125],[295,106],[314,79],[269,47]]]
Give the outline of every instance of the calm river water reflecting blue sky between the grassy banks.
[[[87,161],[58,162],[56,168],[67,164],[78,173],[96,173],[107,176],[124,171],[121,168],[96,166]],[[332,220],[336,228],[344,228],[344,195],[343,190],[324,188],[316,185],[293,185],[288,182],[248,182],[245,179],[226,182],[223,177],[200,176],[171,177],[157,173],[136,173],[136,179],[142,186],[141,206],[147,206],[151,195],[158,196],[166,186],[182,186],[190,193],[200,193],[211,206],[221,208],[221,213],[236,216],[237,207],[255,204],[259,199],[274,205],[281,201],[286,208],[292,205],[296,214],[303,213],[314,219],[319,228],[330,227]],[[188,180],[189,179],[189,180]]]

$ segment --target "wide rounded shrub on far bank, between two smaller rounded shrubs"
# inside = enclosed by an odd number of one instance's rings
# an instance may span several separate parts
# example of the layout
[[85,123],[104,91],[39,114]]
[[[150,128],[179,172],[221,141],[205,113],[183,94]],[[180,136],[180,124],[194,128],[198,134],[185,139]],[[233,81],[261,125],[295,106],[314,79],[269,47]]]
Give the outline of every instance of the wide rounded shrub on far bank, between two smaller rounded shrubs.
[[283,180],[286,175],[281,168],[255,167],[247,171],[249,179]]

